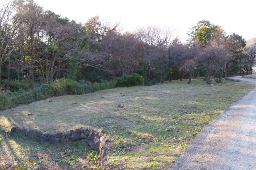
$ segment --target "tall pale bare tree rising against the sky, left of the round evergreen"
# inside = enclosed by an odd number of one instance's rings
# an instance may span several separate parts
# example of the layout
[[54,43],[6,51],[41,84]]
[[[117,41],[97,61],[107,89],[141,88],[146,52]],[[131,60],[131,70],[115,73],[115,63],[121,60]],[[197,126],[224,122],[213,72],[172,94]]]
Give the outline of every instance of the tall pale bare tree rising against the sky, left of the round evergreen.
[[144,43],[143,62],[148,63],[149,71],[155,69],[163,83],[168,77],[170,79],[170,68],[172,58],[170,57],[170,46],[177,39],[174,31],[169,27],[149,26],[138,28],[134,34]]

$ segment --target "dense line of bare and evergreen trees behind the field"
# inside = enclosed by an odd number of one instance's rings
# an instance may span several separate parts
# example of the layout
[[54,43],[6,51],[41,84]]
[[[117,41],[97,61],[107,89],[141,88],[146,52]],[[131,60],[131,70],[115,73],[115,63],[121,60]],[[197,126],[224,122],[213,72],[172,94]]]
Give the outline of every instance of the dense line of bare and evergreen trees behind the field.
[[[202,20],[182,44],[168,28],[149,26],[121,33],[119,23],[100,20],[76,23],[44,10],[33,0],[15,0],[0,9],[0,91],[11,80],[52,83],[68,77],[100,81],[139,73],[145,84],[204,76],[250,73],[255,39],[226,35],[220,26]],[[1,80],[4,80],[2,83]]]

